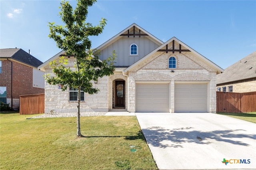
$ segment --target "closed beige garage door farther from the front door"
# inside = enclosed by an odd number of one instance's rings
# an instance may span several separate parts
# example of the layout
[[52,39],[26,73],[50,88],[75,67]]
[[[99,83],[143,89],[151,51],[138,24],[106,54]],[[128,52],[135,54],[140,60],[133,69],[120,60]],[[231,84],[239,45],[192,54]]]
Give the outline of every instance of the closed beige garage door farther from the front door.
[[206,84],[175,84],[174,112],[206,112]]

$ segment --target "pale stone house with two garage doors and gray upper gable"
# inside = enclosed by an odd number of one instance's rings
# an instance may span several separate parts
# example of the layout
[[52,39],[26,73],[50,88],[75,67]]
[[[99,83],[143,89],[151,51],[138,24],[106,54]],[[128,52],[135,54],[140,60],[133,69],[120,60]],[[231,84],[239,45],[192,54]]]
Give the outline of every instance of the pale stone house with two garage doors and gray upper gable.
[[[224,70],[177,38],[164,43],[132,24],[96,49],[101,60],[116,51],[116,71],[93,82],[98,94],[82,92],[80,111],[216,113],[216,74]],[[49,61],[63,55],[60,51],[38,68],[54,75]],[[74,65],[73,57],[69,63]],[[45,84],[45,113],[76,112],[76,99],[77,89],[62,92]]]

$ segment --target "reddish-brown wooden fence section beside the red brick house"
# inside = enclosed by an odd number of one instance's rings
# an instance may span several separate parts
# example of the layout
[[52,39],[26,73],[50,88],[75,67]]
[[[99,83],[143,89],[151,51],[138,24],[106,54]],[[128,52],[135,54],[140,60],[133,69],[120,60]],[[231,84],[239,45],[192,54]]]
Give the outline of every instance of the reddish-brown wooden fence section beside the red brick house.
[[20,95],[20,115],[44,113],[44,93]]

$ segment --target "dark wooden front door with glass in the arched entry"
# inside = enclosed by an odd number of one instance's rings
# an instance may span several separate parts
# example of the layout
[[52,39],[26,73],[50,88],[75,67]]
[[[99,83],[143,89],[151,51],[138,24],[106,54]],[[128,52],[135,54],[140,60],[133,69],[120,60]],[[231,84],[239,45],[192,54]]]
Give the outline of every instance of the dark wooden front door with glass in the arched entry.
[[125,81],[116,81],[116,107],[125,107]]

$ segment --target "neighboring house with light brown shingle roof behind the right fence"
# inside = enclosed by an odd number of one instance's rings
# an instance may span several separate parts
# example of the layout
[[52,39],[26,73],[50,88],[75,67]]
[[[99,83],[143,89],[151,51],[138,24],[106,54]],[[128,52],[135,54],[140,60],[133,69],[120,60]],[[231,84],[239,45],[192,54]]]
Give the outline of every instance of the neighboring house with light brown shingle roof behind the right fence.
[[256,51],[217,75],[217,91],[236,93],[256,91]]

